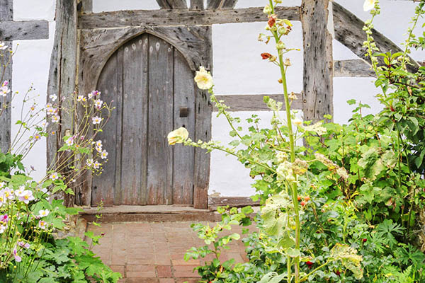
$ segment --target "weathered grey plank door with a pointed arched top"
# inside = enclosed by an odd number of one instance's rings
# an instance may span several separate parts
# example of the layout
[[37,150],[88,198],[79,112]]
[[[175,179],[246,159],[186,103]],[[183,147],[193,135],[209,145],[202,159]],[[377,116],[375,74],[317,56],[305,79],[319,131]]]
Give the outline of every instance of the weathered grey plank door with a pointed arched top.
[[91,204],[193,204],[195,151],[166,140],[178,127],[195,137],[193,71],[183,55],[144,33],[108,59],[97,89],[115,110],[98,134],[109,155]]

